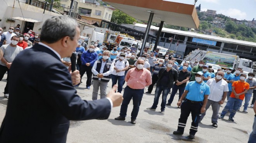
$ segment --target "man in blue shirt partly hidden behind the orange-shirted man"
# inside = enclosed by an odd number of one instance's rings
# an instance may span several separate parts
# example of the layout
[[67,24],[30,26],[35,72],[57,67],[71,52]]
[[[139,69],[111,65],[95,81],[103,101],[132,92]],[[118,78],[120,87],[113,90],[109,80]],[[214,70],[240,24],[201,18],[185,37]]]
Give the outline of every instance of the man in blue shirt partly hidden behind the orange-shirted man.
[[232,83],[234,81],[240,80],[240,73],[242,72],[242,68],[237,68],[237,70],[230,75],[226,82],[228,83],[228,94],[227,94],[227,100],[229,99],[231,93],[232,93]]

